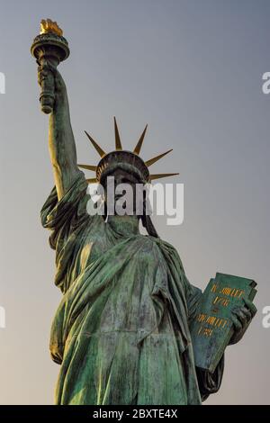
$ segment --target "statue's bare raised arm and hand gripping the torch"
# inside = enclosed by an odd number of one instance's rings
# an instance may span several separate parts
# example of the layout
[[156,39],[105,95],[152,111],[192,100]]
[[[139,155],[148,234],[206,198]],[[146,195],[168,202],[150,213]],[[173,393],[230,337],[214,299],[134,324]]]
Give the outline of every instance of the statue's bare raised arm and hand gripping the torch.
[[55,79],[54,110],[49,115],[49,155],[60,200],[80,172],[76,165],[76,144],[70,122],[67,88],[62,76],[49,64],[39,67],[39,83],[52,72]]

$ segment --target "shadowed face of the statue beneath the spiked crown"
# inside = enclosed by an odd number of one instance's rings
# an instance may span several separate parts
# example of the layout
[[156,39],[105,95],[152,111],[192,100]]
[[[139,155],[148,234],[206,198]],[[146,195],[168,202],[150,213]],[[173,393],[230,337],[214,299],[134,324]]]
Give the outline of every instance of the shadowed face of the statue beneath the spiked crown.
[[[113,181],[111,180],[110,182],[108,182],[108,179],[107,179],[107,184],[104,187],[105,202],[107,203],[107,206],[108,206],[108,201],[109,202],[110,200],[112,201],[112,189],[113,189],[114,204],[117,204],[117,203],[120,204],[121,197],[122,197],[122,199],[124,200],[124,203],[123,203],[124,207],[127,208],[127,212],[125,214],[136,214],[135,213],[136,184],[139,184],[138,179],[134,175],[131,175],[130,173],[125,172],[121,169],[116,170],[110,176],[113,176],[114,180]],[[114,185],[112,185],[112,182],[114,183]],[[108,184],[110,184],[110,186],[108,186]],[[121,184],[126,184],[127,190],[123,191],[122,189],[123,186]],[[117,186],[119,187],[120,193],[117,193],[117,190],[116,190]],[[110,193],[109,193],[109,190],[110,190]],[[126,202],[128,202],[130,206],[129,205],[127,206]],[[117,212],[117,208],[115,209],[115,214],[119,214]]]

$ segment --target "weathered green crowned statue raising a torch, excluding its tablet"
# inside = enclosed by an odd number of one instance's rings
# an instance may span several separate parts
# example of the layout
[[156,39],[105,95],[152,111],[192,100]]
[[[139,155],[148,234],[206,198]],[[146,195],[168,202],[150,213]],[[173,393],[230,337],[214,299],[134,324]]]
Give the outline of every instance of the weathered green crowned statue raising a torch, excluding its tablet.
[[[150,217],[90,215],[87,186],[104,188],[153,178],[139,157],[146,129],[134,151],[121,147],[114,120],[115,150],[101,156],[85,179],[76,158],[67,88],[58,63],[67,58],[67,40],[57,23],[43,21],[31,52],[39,63],[40,103],[49,114],[49,153],[55,186],[41,210],[49,244],[56,250],[55,284],[63,293],[50,336],[50,354],[60,365],[57,404],[201,404],[217,392],[224,368],[214,373],[196,368],[190,325],[202,292],[190,284],[174,247],[158,237]],[[45,38],[44,38],[45,37]],[[165,153],[166,154],[166,153]],[[170,175],[170,174],[165,174]],[[145,211],[145,207],[143,208]],[[139,220],[148,236],[139,233]],[[230,344],[238,342],[256,313],[245,301],[231,317]]]

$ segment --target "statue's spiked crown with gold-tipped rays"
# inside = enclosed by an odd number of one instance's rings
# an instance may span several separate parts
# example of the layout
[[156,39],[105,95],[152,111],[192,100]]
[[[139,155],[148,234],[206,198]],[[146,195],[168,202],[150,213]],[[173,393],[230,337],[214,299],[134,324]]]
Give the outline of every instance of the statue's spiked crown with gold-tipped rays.
[[101,148],[97,142],[85,131],[86,136],[90,139],[92,145],[94,146],[95,150],[101,157],[97,166],[93,165],[77,165],[82,167],[86,170],[92,170],[95,172],[95,177],[86,179],[86,181],[91,184],[94,182],[101,183],[103,177],[108,175],[109,173],[113,172],[117,168],[122,168],[134,175],[137,175],[139,179],[141,179],[144,183],[151,182],[155,179],[159,179],[166,176],[174,176],[179,175],[178,173],[175,174],[150,174],[148,171],[148,167],[153,165],[157,162],[160,158],[166,156],[166,154],[170,153],[173,148],[169,149],[165,153],[159,154],[156,157],[152,157],[147,161],[143,161],[141,157],[139,157],[139,152],[147,131],[148,125],[146,125],[145,129],[142,131],[142,134],[139,137],[139,141],[136,144],[136,147],[133,151],[124,150],[121,147],[121,138],[117,126],[116,119],[114,117],[114,135],[115,135],[115,150],[106,153],[103,148]]

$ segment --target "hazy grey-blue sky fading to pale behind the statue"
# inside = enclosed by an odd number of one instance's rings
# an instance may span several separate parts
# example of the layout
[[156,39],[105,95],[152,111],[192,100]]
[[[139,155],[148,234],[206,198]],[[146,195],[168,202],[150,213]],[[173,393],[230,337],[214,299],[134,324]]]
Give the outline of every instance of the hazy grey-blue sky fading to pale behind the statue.
[[180,172],[184,184],[184,224],[156,225],[189,280],[204,289],[219,271],[257,281],[257,317],[228,347],[220,392],[207,403],[270,402],[269,13],[267,0],[0,1],[0,403],[52,403],[58,375],[48,346],[61,294],[40,225],[53,185],[48,116],[30,54],[47,17],[70,45],[59,70],[79,161],[98,158],[84,130],[110,149],[115,115],[131,148],[148,122],[142,157],[174,148],[153,170]]

